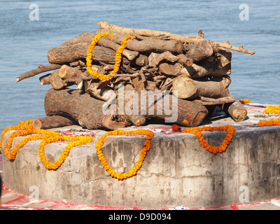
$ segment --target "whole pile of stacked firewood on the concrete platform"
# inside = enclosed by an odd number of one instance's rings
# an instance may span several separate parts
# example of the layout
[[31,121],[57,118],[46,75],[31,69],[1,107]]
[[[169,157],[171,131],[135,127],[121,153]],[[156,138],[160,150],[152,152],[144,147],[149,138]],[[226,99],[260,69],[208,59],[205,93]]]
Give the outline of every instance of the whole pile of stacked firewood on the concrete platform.
[[[229,41],[218,43],[207,41],[199,31],[197,36],[182,36],[165,31],[130,29],[98,22],[100,28],[95,34],[85,32],[48,50],[49,65],[38,65],[38,69],[22,73],[17,82],[38,73],[53,71],[40,77],[41,85],[50,84],[45,94],[47,118],[34,120],[36,128],[52,128],[78,123],[87,129],[105,128],[113,130],[130,125],[144,125],[146,120],[164,119],[170,115],[156,113],[158,101],[153,106],[154,114],[136,113],[104,114],[102,107],[118,88],[124,92],[142,90],[162,92],[167,90],[178,97],[178,118],[176,122],[186,127],[195,127],[214,111],[216,106],[239,122],[246,118],[246,109],[235,100],[228,90],[230,85],[230,50],[253,55],[255,52],[243,46],[235,47]],[[92,38],[109,32],[114,38],[101,38],[92,51],[92,69],[108,74],[115,64],[116,50],[127,35],[122,63],[117,74],[109,81],[99,80],[87,71],[87,47]],[[76,85],[75,89],[68,88]],[[125,99],[129,102],[131,99]],[[172,108],[170,98],[168,106]],[[173,105],[174,106],[174,105]],[[117,106],[118,107],[118,106]]]

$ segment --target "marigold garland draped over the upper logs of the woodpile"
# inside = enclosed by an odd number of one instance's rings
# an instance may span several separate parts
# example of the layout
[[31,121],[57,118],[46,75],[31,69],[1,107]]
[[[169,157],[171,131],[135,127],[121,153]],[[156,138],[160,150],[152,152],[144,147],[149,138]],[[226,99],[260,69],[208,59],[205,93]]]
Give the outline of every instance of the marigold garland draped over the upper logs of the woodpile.
[[[87,71],[92,76],[95,76],[95,77],[99,78],[100,80],[110,80],[111,78],[113,78],[113,76],[99,74],[96,71],[93,71],[93,69],[92,69],[92,50],[95,47],[95,45],[97,44],[97,42],[100,40],[100,38],[105,37],[105,36],[111,36],[111,40],[114,37],[113,34],[109,34],[108,32],[97,34],[97,36],[94,36],[94,38],[92,38],[92,43],[87,48]],[[127,44],[128,39],[133,40],[133,37],[126,36],[125,38],[123,38],[123,41],[122,41],[120,47],[118,48],[118,50],[116,50],[116,63],[115,63],[113,71],[111,71],[109,73],[109,75],[116,74],[118,72],[118,70],[120,69],[120,62],[122,61],[122,53],[123,53],[123,50],[125,50],[125,45]]]

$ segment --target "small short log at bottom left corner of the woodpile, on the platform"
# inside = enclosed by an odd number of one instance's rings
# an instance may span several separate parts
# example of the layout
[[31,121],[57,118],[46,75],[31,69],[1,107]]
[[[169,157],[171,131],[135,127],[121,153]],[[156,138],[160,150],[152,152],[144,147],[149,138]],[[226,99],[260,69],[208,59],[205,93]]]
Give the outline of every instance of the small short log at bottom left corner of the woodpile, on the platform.
[[32,126],[34,129],[51,129],[55,127],[64,127],[69,125],[75,125],[76,121],[63,116],[51,116],[45,118],[37,118],[33,120]]

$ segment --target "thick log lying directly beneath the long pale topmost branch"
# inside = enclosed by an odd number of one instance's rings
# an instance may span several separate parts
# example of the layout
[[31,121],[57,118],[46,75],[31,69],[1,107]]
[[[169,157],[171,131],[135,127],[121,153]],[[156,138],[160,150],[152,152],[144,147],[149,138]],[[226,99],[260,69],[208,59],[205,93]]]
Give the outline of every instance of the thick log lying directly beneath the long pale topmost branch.
[[[97,30],[97,33],[102,33],[104,31],[108,31],[109,33],[113,34],[114,38],[112,41],[118,44],[120,44],[123,41],[123,38],[127,36],[109,29],[99,29]],[[138,41],[136,38],[134,38],[133,40],[127,40],[125,48],[139,52],[146,52],[149,50],[167,50],[181,53],[183,51],[183,43],[178,40],[162,40],[160,38],[154,37],[144,38],[144,40],[141,41]]]

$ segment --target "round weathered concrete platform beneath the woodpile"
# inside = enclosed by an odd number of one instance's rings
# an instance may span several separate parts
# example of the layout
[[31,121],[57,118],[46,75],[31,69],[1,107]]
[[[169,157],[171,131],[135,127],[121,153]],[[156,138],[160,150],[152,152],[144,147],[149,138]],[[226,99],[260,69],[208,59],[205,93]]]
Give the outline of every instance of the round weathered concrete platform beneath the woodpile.
[[[280,126],[256,127],[267,105],[245,104],[248,118],[235,123],[222,111],[203,125],[234,125],[236,132],[223,153],[206,151],[192,134],[171,130],[170,125],[148,125],[154,130],[151,149],[136,176],[124,181],[111,178],[97,158],[95,143],[101,130],[64,127],[64,134],[95,135],[94,141],[72,148],[59,169],[45,169],[39,156],[40,141],[20,148],[14,161],[3,155],[4,183],[23,195],[38,190],[41,200],[87,204],[100,207],[170,209],[223,207],[280,197]],[[271,118],[278,118],[274,116]],[[131,127],[130,129],[133,129]],[[76,131],[75,131],[76,130]],[[3,146],[10,135],[7,132]],[[203,132],[209,144],[220,145],[224,132]],[[14,140],[17,144],[22,137]],[[137,162],[145,137],[107,137],[104,155],[117,172],[127,172]],[[45,146],[50,162],[59,158],[65,143]]]

